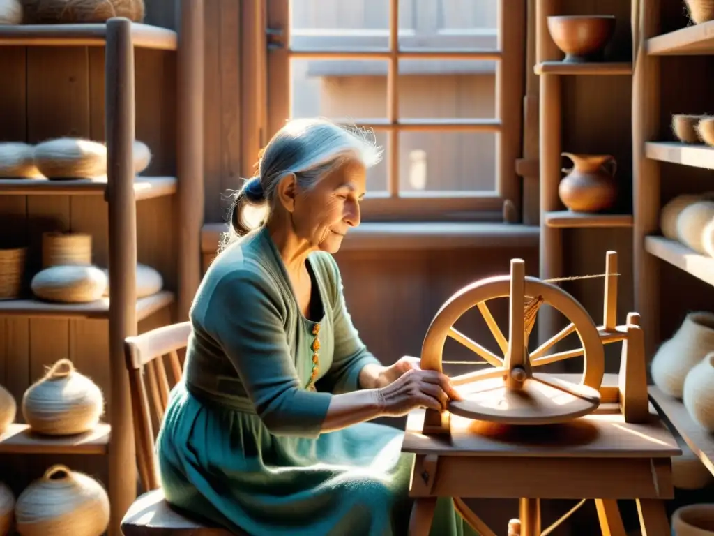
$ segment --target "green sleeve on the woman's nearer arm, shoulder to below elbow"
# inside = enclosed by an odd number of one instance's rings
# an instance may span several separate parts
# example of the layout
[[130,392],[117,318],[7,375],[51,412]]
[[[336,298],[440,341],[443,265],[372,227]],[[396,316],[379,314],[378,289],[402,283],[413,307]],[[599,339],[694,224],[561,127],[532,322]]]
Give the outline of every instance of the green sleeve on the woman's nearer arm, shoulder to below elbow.
[[224,274],[206,310],[211,332],[273,435],[320,435],[332,395],[302,389],[288,347],[285,305],[248,269]]

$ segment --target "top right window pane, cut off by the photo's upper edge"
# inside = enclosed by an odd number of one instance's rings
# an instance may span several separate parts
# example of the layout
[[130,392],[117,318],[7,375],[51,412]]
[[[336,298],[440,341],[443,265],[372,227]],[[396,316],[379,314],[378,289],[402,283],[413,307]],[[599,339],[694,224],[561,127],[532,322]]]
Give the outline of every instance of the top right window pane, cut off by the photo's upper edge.
[[399,20],[402,49],[498,48],[498,0],[400,0]]

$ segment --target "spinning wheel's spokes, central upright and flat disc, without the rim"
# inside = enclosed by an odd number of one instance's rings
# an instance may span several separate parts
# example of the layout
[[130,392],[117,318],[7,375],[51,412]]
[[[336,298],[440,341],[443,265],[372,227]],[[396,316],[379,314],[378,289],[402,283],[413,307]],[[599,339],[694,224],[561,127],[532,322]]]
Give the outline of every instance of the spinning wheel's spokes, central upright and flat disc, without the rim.
[[451,402],[451,412],[473,419],[543,424],[585,415],[598,406],[600,393],[597,389],[565,382],[548,374],[533,373],[533,367],[575,357],[584,352],[580,348],[571,352],[543,355],[555,342],[575,331],[575,325],[570,324],[532,354],[528,353],[528,337],[542,304],[543,298],[540,296],[531,297],[526,302],[525,263],[521,259],[513,259],[508,340],[503,337],[486,303],[478,304],[486,324],[504,354],[503,359],[451,327],[449,337],[461,342],[493,365],[493,368],[451,378],[454,385],[461,387],[460,391],[466,397],[464,400]]

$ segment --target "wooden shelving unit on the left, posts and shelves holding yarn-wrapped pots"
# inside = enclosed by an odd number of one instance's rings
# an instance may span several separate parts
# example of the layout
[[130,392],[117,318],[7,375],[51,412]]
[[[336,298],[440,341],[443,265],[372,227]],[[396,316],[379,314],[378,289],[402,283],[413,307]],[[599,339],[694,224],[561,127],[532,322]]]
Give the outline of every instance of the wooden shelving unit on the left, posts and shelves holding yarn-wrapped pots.
[[[136,498],[136,455],[124,359],[124,339],[138,322],[178,301],[185,319],[200,281],[200,232],[203,220],[203,0],[176,0],[176,31],[109,19],[106,24],[0,26],[0,46],[104,47],[104,124],[108,177],[104,180],[1,179],[0,196],[104,195],[109,224],[109,297],[89,304],[54,304],[34,299],[0,302],[0,320],[15,318],[106,319],[109,322],[111,399],[107,423],[73,437],[41,437],[26,425],[11,425],[0,436],[0,454],[106,455],[111,502],[109,535]],[[176,174],[135,177],[136,137],[134,50],[176,53]],[[176,194],[178,231],[177,292],[136,297],[136,203]],[[171,225],[171,222],[167,222]]]

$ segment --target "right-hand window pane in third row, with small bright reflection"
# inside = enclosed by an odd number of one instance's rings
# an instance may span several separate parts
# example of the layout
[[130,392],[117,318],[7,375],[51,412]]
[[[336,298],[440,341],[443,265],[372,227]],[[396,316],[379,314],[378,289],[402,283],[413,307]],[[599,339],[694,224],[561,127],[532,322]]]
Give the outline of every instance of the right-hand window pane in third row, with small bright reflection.
[[400,192],[493,192],[496,132],[399,133]]

